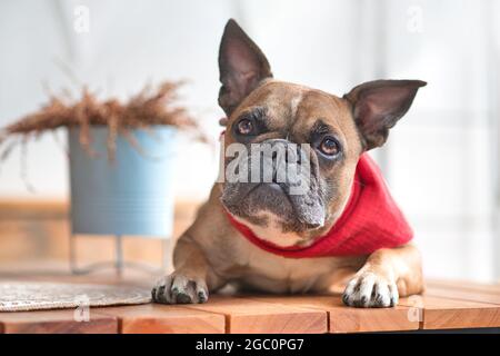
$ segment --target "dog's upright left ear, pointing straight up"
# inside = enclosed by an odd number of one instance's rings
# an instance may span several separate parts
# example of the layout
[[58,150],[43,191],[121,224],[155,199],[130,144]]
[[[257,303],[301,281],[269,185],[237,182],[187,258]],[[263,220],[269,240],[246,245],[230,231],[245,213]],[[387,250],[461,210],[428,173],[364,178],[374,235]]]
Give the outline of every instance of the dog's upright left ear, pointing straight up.
[[219,72],[219,105],[228,117],[262,79],[272,77],[266,56],[233,19],[220,42]]

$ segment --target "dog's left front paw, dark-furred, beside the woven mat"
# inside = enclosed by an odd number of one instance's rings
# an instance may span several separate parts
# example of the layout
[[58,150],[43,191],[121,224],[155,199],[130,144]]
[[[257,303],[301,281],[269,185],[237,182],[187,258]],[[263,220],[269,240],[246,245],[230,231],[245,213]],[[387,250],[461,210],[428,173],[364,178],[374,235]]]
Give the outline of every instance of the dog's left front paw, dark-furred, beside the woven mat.
[[172,273],[157,281],[151,297],[153,301],[161,304],[204,303],[208,300],[208,288],[202,278]]

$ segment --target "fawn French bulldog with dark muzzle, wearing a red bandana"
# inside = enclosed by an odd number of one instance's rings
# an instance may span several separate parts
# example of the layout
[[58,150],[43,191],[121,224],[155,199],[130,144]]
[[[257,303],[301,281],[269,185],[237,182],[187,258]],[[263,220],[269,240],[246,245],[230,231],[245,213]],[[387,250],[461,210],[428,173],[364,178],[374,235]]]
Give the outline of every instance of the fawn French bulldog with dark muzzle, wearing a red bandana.
[[[271,181],[216,182],[177,241],[174,271],[157,281],[153,301],[204,303],[228,284],[276,294],[343,290],[343,303],[352,307],[391,307],[421,293],[411,228],[366,152],[386,142],[426,82],[376,80],[337,97],[278,81],[232,19],[222,34],[219,70],[223,149],[309,145],[308,189],[292,195],[292,184],[276,180],[277,155]],[[293,149],[284,160],[300,164]],[[238,161],[226,156],[226,168]]]

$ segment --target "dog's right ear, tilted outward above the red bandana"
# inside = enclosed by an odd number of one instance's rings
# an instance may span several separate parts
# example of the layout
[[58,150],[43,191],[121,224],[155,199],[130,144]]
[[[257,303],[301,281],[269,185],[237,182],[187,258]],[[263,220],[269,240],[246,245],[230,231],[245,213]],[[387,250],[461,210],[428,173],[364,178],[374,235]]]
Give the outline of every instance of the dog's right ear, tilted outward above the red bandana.
[[366,150],[382,146],[389,129],[408,111],[421,80],[376,80],[362,83],[344,95],[352,107]]

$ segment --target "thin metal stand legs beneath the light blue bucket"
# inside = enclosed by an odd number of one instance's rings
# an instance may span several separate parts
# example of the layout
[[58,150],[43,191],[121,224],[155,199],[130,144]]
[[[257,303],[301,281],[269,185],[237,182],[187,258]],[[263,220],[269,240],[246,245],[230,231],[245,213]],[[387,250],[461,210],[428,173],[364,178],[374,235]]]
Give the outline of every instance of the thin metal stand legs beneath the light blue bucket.
[[150,274],[163,274],[166,273],[167,268],[169,267],[169,253],[170,253],[170,239],[162,238],[161,239],[161,266],[157,267],[150,264],[144,263],[133,263],[133,261],[126,261],[123,259],[123,248],[122,248],[122,236],[116,235],[114,236],[114,251],[116,251],[116,259],[114,261],[101,261],[101,263],[93,263],[90,265],[87,265],[84,267],[78,267],[78,260],[77,260],[77,246],[76,246],[76,239],[77,235],[71,234],[70,235],[70,268],[71,273],[73,275],[87,275],[92,271],[97,271],[100,269],[106,268],[114,268],[117,271],[117,276],[121,277],[123,275],[124,267],[133,268],[142,271],[147,271]]

